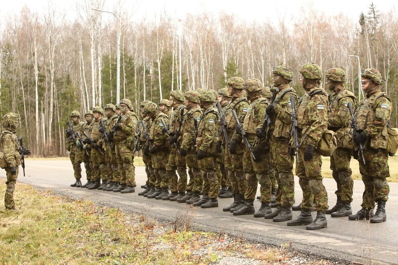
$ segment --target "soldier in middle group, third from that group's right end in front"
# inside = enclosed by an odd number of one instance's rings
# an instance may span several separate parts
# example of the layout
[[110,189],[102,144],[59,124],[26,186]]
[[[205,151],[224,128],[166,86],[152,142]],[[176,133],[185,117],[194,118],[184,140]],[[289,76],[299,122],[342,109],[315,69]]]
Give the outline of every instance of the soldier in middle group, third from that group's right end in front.
[[[185,196],[186,184],[182,185],[182,183],[186,183],[187,181],[185,158],[180,156],[177,152],[177,139],[180,135],[182,117],[185,110],[185,105],[183,104],[185,98],[184,93],[180,90],[171,91],[169,98],[170,106],[173,107],[173,112],[170,117],[170,153],[166,171],[169,178],[169,189],[171,193],[169,196],[163,197],[162,200],[176,201]],[[179,180],[176,171],[178,173]],[[178,184],[180,184],[180,186],[178,186]]]

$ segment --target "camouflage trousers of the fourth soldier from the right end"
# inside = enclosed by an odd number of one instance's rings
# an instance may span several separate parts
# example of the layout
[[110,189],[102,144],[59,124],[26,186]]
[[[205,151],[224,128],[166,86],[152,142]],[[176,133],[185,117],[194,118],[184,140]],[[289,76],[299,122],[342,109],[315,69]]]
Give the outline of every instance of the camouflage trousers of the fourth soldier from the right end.
[[272,167],[276,169],[278,183],[275,201],[284,208],[290,208],[294,203],[293,157],[289,155],[288,146],[288,139],[271,136]]

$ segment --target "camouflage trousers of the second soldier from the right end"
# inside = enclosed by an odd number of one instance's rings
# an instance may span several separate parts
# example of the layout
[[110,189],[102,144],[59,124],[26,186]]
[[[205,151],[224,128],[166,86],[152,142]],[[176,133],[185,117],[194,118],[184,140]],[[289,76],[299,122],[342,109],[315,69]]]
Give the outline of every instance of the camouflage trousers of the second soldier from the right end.
[[333,179],[337,183],[335,194],[344,202],[352,202],[352,193],[354,181],[351,177],[352,170],[350,168],[351,150],[337,148],[330,157],[330,169],[332,170]]

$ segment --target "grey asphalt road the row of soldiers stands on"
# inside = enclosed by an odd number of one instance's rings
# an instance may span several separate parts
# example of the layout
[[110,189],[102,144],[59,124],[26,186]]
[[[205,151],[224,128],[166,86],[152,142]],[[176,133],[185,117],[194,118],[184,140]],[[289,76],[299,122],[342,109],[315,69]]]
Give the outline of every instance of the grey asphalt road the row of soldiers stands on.
[[[21,168],[20,168],[21,169]],[[324,169],[325,170],[325,169]],[[391,170],[391,169],[390,169]],[[394,169],[396,170],[396,169]],[[84,170],[83,170],[83,176]],[[0,172],[5,178],[5,171]],[[328,227],[308,231],[305,226],[287,226],[286,222],[272,222],[252,215],[233,216],[222,208],[233,199],[219,199],[218,208],[202,209],[177,202],[147,199],[138,196],[145,183],[143,167],[136,167],[136,193],[121,194],[84,188],[72,188],[73,170],[68,160],[30,160],[26,159],[26,177],[22,169],[18,182],[32,184],[37,188],[51,189],[54,193],[65,194],[76,199],[91,200],[95,203],[118,207],[137,213],[149,214],[154,218],[175,221],[181,212],[190,216],[190,225],[196,229],[211,230],[217,233],[228,232],[248,240],[265,244],[287,245],[299,252],[331,258],[339,264],[398,264],[398,183],[390,183],[390,195],[386,204],[387,221],[372,224],[368,221],[349,221],[347,217],[331,218]],[[85,183],[85,177],[82,182]],[[329,194],[329,206],[336,202],[334,194],[336,183],[324,179]],[[16,187],[18,189],[18,185]],[[353,212],[360,209],[363,183],[354,182]],[[259,194],[259,192],[258,192]],[[295,200],[300,202],[302,192],[295,179]],[[255,201],[256,210],[260,202]],[[293,212],[293,218],[300,212]],[[313,217],[316,213],[313,212]]]

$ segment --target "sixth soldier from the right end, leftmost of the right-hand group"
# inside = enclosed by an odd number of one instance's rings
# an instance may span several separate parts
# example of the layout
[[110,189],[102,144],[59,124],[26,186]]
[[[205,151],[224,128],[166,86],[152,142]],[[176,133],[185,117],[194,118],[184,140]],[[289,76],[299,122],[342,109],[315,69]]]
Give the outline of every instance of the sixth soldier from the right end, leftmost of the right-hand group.
[[232,109],[235,110],[238,118],[243,122],[243,117],[249,107],[249,101],[243,91],[245,80],[241,77],[231,77],[227,80],[228,94],[231,96],[231,102],[226,107],[225,121],[227,123],[227,132],[230,138],[230,147],[224,152],[224,165],[231,182],[234,202],[223,208],[224,212],[234,212],[244,205],[246,193],[245,173],[243,172],[242,156],[245,151],[245,144],[239,140],[232,139],[236,129],[236,120],[232,115]]

